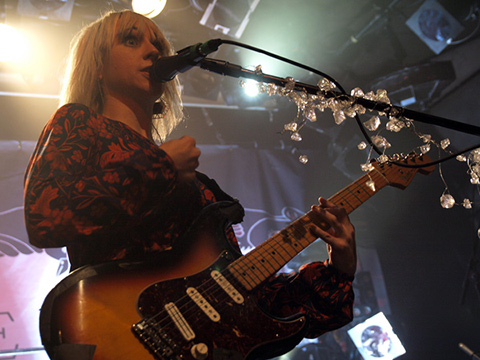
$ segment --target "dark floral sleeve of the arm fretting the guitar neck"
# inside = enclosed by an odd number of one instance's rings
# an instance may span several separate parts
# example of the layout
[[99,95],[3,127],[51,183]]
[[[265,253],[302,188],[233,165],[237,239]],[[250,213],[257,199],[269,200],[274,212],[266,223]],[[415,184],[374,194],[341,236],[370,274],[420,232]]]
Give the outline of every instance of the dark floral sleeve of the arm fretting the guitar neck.
[[273,316],[303,314],[308,321],[306,337],[316,338],[352,321],[352,281],[326,261],[312,262],[298,272],[270,278],[256,296],[260,307]]

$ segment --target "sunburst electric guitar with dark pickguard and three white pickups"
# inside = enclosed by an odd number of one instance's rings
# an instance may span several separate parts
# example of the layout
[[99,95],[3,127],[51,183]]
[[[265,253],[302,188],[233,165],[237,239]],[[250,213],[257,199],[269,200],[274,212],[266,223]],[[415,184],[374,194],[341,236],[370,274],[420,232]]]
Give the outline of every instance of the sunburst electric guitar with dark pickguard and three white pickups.
[[[409,156],[422,165],[428,157]],[[404,189],[428,168],[372,162],[372,169],[330,200],[351,213],[378,190]],[[316,238],[312,211],[246,255],[225,238],[243,217],[235,202],[204,209],[184,240],[154,260],[85,266],[46,297],[40,333],[49,356],[89,349],[94,360],[241,360],[279,356],[298,344],[306,320],[276,319],[256,305],[252,291]],[[323,224],[323,226],[326,226]],[[91,357],[90,357],[91,358]]]

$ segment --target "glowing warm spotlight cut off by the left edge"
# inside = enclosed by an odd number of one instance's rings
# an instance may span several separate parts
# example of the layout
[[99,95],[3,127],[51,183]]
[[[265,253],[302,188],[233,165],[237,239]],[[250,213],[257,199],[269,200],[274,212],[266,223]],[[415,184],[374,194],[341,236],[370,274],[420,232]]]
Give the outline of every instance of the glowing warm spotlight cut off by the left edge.
[[0,62],[21,62],[28,57],[29,43],[15,28],[0,24]]

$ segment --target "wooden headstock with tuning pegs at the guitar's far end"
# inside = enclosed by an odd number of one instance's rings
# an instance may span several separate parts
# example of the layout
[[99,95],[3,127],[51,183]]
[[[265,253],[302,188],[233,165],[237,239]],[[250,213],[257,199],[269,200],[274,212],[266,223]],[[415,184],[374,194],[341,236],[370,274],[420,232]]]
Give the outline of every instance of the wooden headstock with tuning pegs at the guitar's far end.
[[373,161],[375,170],[371,171],[379,171],[388,181],[388,185],[405,189],[417,172],[428,175],[435,169],[434,165],[427,166],[431,161],[429,156],[423,154],[395,155],[385,163]]

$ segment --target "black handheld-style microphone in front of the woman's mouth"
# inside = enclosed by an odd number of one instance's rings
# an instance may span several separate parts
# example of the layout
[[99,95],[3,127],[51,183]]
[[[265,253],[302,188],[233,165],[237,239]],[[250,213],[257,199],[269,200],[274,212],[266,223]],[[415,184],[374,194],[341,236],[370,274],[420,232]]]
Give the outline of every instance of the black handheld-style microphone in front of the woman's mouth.
[[158,58],[150,69],[153,81],[166,82],[178,73],[183,73],[198,65],[208,54],[218,50],[222,39],[212,39],[180,50],[177,55]]

